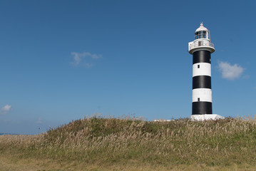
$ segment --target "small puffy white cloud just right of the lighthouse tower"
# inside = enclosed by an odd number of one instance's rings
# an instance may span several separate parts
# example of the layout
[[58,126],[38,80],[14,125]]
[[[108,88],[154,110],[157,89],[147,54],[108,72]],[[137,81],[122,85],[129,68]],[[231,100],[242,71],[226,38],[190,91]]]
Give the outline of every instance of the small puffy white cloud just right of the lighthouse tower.
[[242,68],[237,64],[232,66],[228,62],[222,61],[219,62],[218,68],[222,73],[222,78],[226,78],[227,80],[235,80],[236,78],[240,78],[242,72],[245,70],[245,68]]

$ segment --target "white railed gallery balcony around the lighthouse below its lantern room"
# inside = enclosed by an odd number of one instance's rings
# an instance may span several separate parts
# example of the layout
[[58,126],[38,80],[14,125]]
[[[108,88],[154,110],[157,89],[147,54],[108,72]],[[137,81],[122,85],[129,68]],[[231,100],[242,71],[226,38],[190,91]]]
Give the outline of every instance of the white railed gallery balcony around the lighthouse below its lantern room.
[[188,51],[190,54],[193,54],[195,51],[210,51],[213,53],[215,51],[214,44],[208,40],[200,40],[200,41],[191,41],[188,43]]

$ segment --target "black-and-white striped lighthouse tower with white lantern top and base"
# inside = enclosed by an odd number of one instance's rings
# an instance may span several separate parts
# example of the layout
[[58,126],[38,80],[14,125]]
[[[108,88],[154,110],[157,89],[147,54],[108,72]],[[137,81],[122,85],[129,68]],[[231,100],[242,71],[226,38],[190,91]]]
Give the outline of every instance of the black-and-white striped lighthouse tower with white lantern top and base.
[[192,120],[216,120],[224,117],[213,114],[211,53],[215,51],[210,41],[210,31],[200,24],[195,30],[195,40],[188,43],[193,55]]

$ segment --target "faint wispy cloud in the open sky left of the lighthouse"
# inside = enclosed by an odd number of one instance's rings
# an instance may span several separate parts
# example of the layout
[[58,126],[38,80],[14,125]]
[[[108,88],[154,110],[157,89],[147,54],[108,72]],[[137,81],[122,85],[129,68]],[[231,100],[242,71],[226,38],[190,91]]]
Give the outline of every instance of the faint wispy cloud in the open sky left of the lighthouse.
[[102,57],[101,55],[92,54],[90,52],[72,52],[71,55],[73,56],[73,62],[71,63],[73,66],[78,66],[83,62],[86,68],[91,68],[93,66],[92,61]]

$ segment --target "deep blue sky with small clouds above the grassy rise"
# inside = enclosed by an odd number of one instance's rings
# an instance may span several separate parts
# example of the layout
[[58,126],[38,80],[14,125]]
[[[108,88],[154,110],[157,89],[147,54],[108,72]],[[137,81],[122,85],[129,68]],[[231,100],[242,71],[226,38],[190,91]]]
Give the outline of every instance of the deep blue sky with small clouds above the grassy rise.
[[188,118],[201,21],[213,113],[256,115],[255,17],[255,1],[0,1],[0,133],[93,113]]

